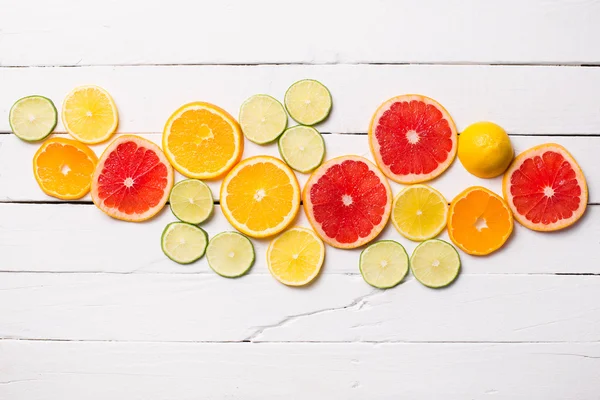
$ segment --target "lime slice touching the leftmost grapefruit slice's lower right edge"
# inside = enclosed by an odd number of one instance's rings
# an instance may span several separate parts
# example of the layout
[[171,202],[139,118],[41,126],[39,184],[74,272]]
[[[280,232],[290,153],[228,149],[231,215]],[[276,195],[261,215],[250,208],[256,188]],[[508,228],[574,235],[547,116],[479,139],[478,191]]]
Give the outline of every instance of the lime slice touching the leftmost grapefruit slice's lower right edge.
[[213,210],[210,188],[197,179],[186,179],[173,186],[169,203],[173,214],[189,224],[206,221]]

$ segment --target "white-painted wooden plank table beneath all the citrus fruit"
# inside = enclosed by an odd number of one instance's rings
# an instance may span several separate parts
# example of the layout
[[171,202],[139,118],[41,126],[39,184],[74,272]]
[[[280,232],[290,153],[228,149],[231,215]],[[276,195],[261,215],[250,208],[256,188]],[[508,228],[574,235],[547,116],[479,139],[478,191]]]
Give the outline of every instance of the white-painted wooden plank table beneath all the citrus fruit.
[[[599,399],[599,20],[598,0],[0,0],[0,399]],[[333,94],[318,127],[328,157],[371,157],[375,108],[423,93],[459,130],[501,124],[517,152],[566,146],[587,213],[555,234],[517,225],[490,257],[461,253],[444,290],[412,277],[373,290],[358,251],[332,248],[314,285],[284,287],[258,240],[250,274],[228,280],[162,254],[168,210],[131,224],[89,197],[46,197],[37,145],[7,122],[22,96],[60,106],[97,84],[119,132],[159,142],[185,102],[237,115],[306,77]],[[258,153],[277,150],[244,156]],[[447,198],[476,184],[500,191],[458,161],[432,182]],[[231,229],[218,206],[206,229]],[[393,228],[383,237],[414,248]]]

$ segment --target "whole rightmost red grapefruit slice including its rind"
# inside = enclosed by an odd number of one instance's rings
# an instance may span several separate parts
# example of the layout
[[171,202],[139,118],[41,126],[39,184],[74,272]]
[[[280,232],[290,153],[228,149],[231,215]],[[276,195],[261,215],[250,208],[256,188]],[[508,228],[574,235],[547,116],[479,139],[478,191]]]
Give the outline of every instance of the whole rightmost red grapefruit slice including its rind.
[[504,174],[502,191],[517,221],[535,231],[566,228],[587,207],[583,172],[573,156],[555,143],[519,154]]

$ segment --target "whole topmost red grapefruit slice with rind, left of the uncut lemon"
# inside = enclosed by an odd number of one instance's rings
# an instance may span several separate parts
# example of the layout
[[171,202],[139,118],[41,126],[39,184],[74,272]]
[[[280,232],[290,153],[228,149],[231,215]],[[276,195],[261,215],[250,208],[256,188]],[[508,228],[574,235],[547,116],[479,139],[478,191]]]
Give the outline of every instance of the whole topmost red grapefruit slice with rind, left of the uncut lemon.
[[398,183],[431,180],[454,158],[454,121],[438,102],[408,94],[383,103],[371,120],[369,143],[377,165]]

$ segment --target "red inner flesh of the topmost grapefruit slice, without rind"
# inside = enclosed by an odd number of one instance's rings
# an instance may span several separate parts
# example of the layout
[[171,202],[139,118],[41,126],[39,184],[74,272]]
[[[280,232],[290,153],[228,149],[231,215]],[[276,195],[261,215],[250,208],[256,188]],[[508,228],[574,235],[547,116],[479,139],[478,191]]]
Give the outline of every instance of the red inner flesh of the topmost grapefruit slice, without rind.
[[375,127],[383,163],[396,175],[430,174],[452,151],[452,129],[442,112],[423,101],[399,101]]

